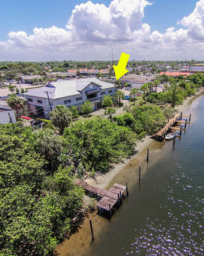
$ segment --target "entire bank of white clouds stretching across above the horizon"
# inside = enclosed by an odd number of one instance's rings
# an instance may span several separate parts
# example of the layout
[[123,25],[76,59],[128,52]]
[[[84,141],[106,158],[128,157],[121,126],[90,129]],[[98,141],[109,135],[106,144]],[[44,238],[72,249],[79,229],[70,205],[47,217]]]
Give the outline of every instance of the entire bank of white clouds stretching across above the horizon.
[[203,58],[204,0],[180,20],[184,28],[151,31],[142,23],[146,0],[113,0],[107,7],[91,1],[75,6],[66,28],[34,28],[8,34],[0,42],[2,60],[110,60],[122,51],[136,59]]

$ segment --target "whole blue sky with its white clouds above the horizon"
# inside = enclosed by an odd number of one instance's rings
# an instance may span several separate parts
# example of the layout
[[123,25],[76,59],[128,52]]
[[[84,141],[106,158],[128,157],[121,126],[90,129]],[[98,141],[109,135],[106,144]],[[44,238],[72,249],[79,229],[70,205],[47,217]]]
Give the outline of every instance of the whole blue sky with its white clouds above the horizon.
[[204,60],[204,0],[1,0],[0,61]]

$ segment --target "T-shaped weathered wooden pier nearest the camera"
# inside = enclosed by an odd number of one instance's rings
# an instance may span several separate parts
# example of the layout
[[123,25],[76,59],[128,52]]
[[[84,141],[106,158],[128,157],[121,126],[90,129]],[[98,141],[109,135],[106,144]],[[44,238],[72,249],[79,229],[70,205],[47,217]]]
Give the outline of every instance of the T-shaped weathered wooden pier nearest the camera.
[[124,191],[127,192],[128,195],[128,186],[122,186],[120,184],[115,183],[112,188],[109,190],[97,188],[95,186],[89,185],[87,182],[81,179],[75,179],[75,184],[85,189],[85,191],[91,192],[94,197],[100,197],[98,204],[96,205],[99,209],[103,209],[112,215],[112,208],[115,204],[122,201],[122,197],[124,196]]

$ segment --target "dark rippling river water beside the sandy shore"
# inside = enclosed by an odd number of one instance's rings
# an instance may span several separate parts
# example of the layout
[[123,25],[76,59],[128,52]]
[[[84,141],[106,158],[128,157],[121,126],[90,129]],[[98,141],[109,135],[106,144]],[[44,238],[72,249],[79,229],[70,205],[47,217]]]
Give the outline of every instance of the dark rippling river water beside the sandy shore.
[[101,230],[75,255],[204,255],[204,95],[184,112],[192,113],[191,123],[175,147],[173,141],[153,142],[140,184],[133,166],[128,198],[110,220],[95,217],[103,220],[95,225]]

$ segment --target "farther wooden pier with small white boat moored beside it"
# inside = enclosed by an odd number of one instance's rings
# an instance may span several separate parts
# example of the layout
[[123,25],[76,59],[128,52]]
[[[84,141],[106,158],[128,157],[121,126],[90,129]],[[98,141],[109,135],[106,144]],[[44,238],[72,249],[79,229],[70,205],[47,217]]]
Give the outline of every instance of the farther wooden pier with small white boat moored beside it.
[[[185,120],[182,120],[184,118]],[[157,141],[163,141],[166,134],[171,131],[180,131],[180,135],[182,133],[182,126],[186,128],[187,123],[191,121],[191,114],[190,115],[183,115],[182,112],[180,114],[175,115],[173,118],[168,120],[168,123],[161,129],[159,132],[154,134],[152,138]],[[179,127],[178,127],[179,125]]]

